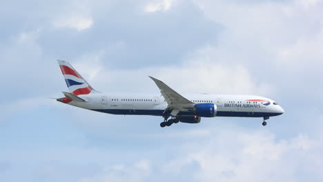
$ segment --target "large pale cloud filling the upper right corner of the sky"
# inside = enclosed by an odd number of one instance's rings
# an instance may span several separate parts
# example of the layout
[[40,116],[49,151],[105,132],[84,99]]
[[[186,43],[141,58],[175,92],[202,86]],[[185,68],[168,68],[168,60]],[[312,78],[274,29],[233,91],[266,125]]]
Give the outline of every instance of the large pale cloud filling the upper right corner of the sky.
[[315,84],[323,76],[322,51],[317,50],[323,30],[321,1],[309,9],[298,1],[248,1],[245,6],[235,1],[194,2],[226,30],[219,35],[220,46],[208,52],[214,60],[244,65],[253,77],[273,85],[285,103],[294,97],[291,92],[313,90],[315,97],[306,97],[306,104],[321,98],[323,88]]

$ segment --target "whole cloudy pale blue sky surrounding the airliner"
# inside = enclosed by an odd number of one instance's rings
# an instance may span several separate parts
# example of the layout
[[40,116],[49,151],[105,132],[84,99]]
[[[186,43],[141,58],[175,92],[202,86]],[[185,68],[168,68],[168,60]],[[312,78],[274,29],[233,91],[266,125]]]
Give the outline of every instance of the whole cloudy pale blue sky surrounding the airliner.
[[[323,1],[6,1],[0,181],[322,181]],[[285,110],[160,128],[72,108],[56,59],[101,92],[255,94]]]

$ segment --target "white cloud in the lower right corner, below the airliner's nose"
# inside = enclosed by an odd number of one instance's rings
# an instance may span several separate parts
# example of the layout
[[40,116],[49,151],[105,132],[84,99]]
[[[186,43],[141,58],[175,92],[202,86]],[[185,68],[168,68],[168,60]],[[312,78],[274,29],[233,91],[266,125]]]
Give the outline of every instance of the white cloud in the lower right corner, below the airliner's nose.
[[271,132],[242,130],[211,133],[205,139],[208,142],[199,139],[199,143],[186,145],[182,150],[185,155],[168,161],[164,172],[182,174],[188,172],[183,171],[188,165],[198,163],[194,174],[190,174],[197,181],[302,181],[299,172],[313,175],[310,181],[323,178],[320,139],[306,134],[276,139]]

